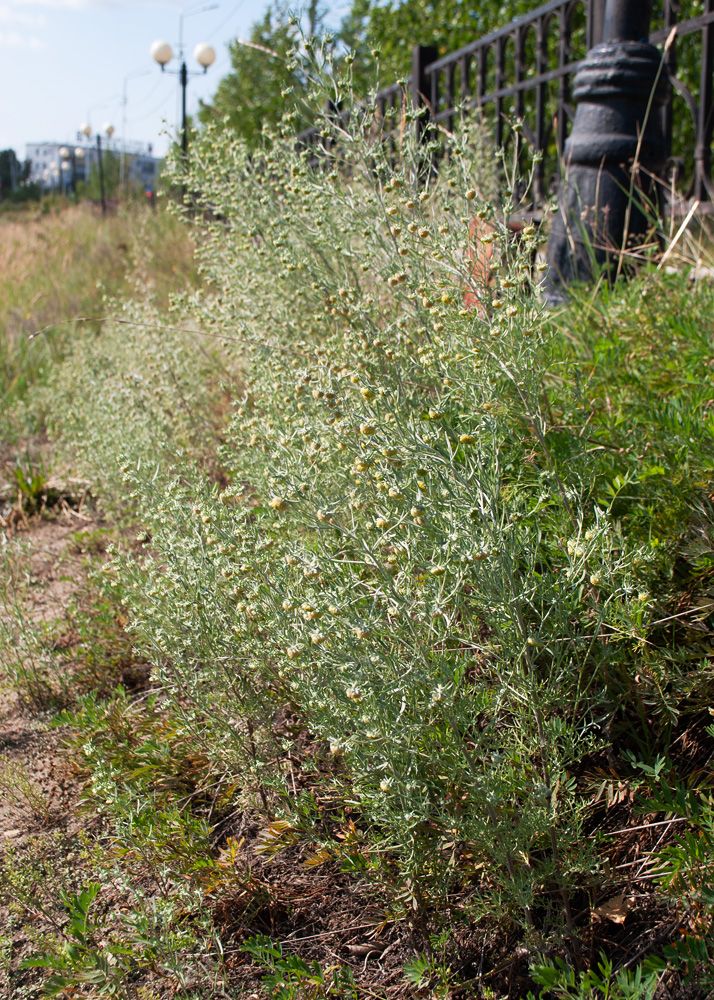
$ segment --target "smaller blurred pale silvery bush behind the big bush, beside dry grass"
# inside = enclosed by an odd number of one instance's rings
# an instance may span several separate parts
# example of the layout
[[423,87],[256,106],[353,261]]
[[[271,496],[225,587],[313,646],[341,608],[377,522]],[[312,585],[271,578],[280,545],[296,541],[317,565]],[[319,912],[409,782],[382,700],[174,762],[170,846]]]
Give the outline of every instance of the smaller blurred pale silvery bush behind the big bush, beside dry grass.
[[80,328],[37,405],[76,471],[118,499],[126,461],[165,477],[215,447],[216,397],[234,376],[190,315],[139,300],[105,307],[101,331]]

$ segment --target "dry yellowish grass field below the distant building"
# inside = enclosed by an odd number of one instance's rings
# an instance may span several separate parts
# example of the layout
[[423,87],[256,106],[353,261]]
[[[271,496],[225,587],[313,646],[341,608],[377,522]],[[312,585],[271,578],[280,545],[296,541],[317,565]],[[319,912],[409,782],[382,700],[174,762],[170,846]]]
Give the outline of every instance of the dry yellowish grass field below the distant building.
[[105,295],[163,305],[196,281],[192,241],[162,210],[140,204],[102,217],[74,205],[0,216],[0,408],[43,380],[73,321],[103,315]]

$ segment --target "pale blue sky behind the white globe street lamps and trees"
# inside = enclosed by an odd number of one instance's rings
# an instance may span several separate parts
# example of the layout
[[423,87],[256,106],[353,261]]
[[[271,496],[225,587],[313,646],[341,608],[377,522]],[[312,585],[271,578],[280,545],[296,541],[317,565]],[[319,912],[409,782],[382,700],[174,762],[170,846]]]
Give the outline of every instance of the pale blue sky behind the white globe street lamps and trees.
[[[179,123],[179,86],[149,55],[151,43],[164,39],[177,51],[183,10],[189,69],[200,70],[193,60],[199,42],[216,50],[205,76],[189,80],[191,113],[229,71],[228,44],[249,37],[268,2],[0,0],[0,149],[23,159],[26,143],[74,143],[84,122],[95,132],[110,122],[120,138],[125,111],[126,138],[163,155],[169,139],[162,132],[175,134]],[[174,58],[166,69],[178,65]]]

